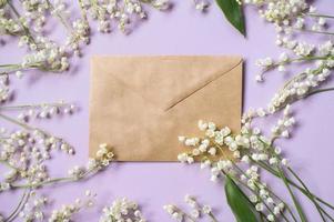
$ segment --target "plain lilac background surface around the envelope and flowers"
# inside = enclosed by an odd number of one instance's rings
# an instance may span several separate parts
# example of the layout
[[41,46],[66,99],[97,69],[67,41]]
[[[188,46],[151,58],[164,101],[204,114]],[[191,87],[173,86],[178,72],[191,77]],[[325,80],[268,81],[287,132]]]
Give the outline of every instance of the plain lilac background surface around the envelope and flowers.
[[[332,0],[315,3],[322,12],[333,12]],[[332,10],[331,10],[332,9]],[[178,1],[170,12],[149,10],[149,21],[140,23],[130,36],[120,31],[111,34],[97,33],[84,57],[74,62],[77,68],[63,75],[31,74],[23,81],[14,81],[17,99],[13,103],[52,102],[58,100],[77,102],[81,111],[72,117],[34,122],[50,132],[67,139],[77,149],[74,157],[55,154],[51,163],[54,175],[67,174],[75,164],[88,160],[89,132],[89,60],[93,54],[241,54],[245,59],[244,109],[265,107],[273,93],[291,77],[272,72],[264,84],[257,84],[254,77],[259,69],[254,62],[266,56],[279,56],[274,44],[275,32],[271,24],[259,18],[257,12],[246,8],[247,38],[234,31],[215,6],[209,13],[198,12],[192,1]],[[63,30],[55,30],[55,38],[62,39]],[[0,63],[19,61],[22,51],[16,41],[2,48]],[[293,72],[292,72],[293,73]],[[331,82],[330,82],[331,84]],[[298,102],[294,110],[298,127],[293,138],[281,142],[292,165],[320,196],[334,203],[333,179],[333,112],[332,93],[323,93]],[[267,123],[273,120],[266,119]],[[2,124],[2,123],[1,123]],[[196,123],[194,123],[194,127]],[[286,190],[271,180],[280,193]],[[220,221],[234,221],[225,202],[222,184],[210,181],[209,171],[198,165],[183,167],[179,163],[118,163],[105,172],[79,183],[49,186],[42,193],[54,199],[53,206],[71,203],[82,196],[87,189],[98,193],[97,206],[78,214],[79,221],[98,221],[103,205],[117,196],[129,196],[142,206],[149,221],[168,222],[171,219],[162,210],[165,203],[183,206],[184,194],[194,194],[200,202],[211,204]],[[14,208],[20,192],[0,196],[0,209],[9,212]],[[287,200],[290,200],[287,198]],[[310,221],[320,221],[315,210],[304,200]],[[185,208],[186,209],[186,208]],[[205,221],[205,220],[204,220]]]

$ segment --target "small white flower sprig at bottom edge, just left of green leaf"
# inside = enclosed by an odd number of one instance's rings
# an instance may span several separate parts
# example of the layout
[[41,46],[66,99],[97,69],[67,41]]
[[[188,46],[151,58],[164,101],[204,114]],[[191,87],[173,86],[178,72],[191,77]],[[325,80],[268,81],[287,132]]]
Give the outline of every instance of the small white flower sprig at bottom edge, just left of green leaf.
[[210,205],[200,205],[196,199],[192,195],[186,194],[184,196],[184,202],[191,208],[191,212],[186,213],[182,211],[174,204],[166,204],[163,209],[171,215],[171,218],[178,222],[182,221],[191,221],[195,222],[199,219],[203,218],[203,215],[208,215],[211,222],[217,222],[215,215],[212,212],[212,208]]

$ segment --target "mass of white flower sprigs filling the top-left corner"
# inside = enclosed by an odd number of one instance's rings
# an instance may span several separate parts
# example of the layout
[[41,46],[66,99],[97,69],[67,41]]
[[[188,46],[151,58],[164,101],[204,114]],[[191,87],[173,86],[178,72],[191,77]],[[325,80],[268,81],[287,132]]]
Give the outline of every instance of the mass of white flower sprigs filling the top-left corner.
[[[70,68],[72,56],[81,56],[81,48],[90,43],[90,19],[98,20],[100,32],[111,31],[112,23],[123,32],[131,30],[138,19],[145,19],[144,4],[165,10],[168,0],[78,0],[80,17],[73,18],[63,0],[22,0],[18,3],[1,1],[0,36],[18,37],[18,47],[28,53],[18,63],[0,65],[0,102],[10,98],[9,77],[22,78],[27,70],[61,73]],[[205,8],[205,4],[201,4]],[[65,41],[55,42],[48,34],[50,21],[58,21],[65,29]],[[1,42],[4,39],[1,39]]]

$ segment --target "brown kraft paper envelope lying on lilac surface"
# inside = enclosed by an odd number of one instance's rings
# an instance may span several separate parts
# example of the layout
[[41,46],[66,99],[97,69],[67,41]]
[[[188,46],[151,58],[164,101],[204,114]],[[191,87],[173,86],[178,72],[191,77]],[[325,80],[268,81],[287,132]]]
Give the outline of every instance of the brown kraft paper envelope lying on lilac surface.
[[240,129],[240,57],[94,57],[90,88],[91,157],[108,143],[119,161],[176,161],[200,119]]

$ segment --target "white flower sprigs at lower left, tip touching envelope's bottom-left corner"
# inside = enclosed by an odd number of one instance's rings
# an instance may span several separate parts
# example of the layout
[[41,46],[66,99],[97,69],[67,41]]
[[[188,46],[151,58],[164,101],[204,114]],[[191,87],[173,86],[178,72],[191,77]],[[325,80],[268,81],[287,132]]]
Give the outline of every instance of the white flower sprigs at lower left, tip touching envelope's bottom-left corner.
[[[52,137],[42,130],[30,130],[26,123],[10,118],[8,120],[26,128],[14,132],[2,131],[1,133],[0,163],[8,169],[8,172],[4,173],[4,180],[0,182],[0,193],[23,190],[23,194],[9,215],[1,215],[3,221],[13,221],[18,215],[27,218],[26,206],[32,196],[31,193],[37,193],[39,189],[50,184],[87,179],[105,169],[113,161],[114,155],[110,148],[107,144],[101,144],[97,158],[90,159],[87,165],[75,165],[69,170],[68,175],[53,178],[48,172],[48,161],[51,159],[52,152],[61,150],[74,154],[73,148],[62,139]],[[39,218],[40,213],[33,215],[30,213],[29,220],[26,221],[38,221]]]

